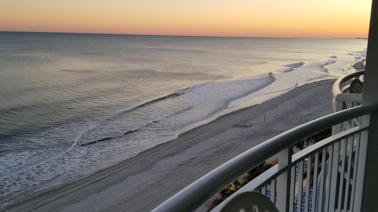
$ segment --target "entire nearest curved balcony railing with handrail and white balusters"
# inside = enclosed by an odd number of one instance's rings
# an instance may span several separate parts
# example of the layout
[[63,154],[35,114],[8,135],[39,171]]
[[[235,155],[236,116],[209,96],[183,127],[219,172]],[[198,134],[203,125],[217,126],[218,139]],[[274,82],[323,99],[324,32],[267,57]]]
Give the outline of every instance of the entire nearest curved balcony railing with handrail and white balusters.
[[[212,211],[224,212],[225,208],[230,211],[230,207],[234,211],[241,210],[233,200],[239,198],[239,203],[248,201],[242,194],[251,191],[262,192],[280,212],[359,211],[369,117],[376,109],[373,103],[364,104],[290,129],[217,167],[152,211],[194,211],[231,182],[277,154],[278,164],[237,190]],[[357,117],[362,118],[360,126],[292,154],[292,146],[298,141]],[[242,210],[254,211],[251,208]]]

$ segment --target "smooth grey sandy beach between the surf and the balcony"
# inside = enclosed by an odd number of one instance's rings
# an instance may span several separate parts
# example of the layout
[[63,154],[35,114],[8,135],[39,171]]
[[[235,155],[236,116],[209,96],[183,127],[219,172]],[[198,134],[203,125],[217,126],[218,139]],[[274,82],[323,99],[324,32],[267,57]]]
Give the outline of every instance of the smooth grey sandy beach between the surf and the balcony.
[[[150,211],[247,149],[332,113],[334,81],[305,84],[265,103],[223,115],[96,174],[34,194],[7,211]],[[202,206],[197,211],[205,210]]]

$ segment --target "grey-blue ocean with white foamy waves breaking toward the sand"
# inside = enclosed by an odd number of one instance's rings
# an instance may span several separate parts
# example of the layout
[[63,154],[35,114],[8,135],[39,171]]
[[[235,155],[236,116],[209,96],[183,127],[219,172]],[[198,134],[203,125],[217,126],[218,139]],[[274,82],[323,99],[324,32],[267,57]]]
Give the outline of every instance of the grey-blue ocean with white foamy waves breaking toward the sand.
[[366,47],[361,39],[0,32],[0,206],[353,72]]

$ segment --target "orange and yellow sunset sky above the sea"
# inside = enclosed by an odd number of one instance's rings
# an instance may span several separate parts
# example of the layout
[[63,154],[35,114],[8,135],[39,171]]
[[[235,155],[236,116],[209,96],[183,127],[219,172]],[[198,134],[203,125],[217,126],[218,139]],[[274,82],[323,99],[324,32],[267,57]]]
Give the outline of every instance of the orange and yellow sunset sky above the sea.
[[371,0],[0,0],[0,31],[365,38]]

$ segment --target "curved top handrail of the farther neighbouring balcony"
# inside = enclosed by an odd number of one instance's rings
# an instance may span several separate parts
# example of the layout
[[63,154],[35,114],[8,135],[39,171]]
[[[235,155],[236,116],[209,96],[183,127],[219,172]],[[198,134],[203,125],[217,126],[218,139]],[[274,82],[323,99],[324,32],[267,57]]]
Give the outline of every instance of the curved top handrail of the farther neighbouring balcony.
[[362,101],[362,95],[361,94],[343,94],[342,93],[342,83],[345,83],[348,80],[351,80],[355,77],[361,76],[365,74],[365,70],[356,71],[352,74],[347,74],[344,77],[339,78],[336,80],[336,82],[332,86],[332,94],[333,98],[335,98],[336,101]]

